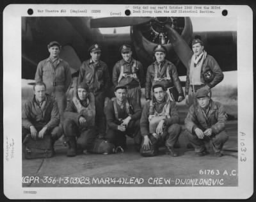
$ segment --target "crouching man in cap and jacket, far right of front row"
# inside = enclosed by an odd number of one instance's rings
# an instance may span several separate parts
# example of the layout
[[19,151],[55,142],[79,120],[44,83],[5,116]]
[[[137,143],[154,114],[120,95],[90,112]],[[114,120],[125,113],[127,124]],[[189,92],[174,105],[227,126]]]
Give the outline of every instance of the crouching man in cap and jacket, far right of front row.
[[210,142],[215,157],[221,157],[223,144],[228,140],[225,131],[225,110],[219,102],[211,100],[209,89],[200,88],[196,91],[196,104],[189,108],[185,119],[188,138],[195,147],[197,156],[207,154],[205,141]]

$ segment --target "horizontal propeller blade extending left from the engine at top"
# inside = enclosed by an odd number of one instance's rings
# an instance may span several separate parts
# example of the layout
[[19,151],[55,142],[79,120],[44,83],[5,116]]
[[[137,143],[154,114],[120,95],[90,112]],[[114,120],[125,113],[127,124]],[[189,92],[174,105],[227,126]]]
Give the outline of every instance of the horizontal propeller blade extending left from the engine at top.
[[91,28],[99,27],[125,27],[143,24],[152,20],[152,17],[103,17],[91,19]]

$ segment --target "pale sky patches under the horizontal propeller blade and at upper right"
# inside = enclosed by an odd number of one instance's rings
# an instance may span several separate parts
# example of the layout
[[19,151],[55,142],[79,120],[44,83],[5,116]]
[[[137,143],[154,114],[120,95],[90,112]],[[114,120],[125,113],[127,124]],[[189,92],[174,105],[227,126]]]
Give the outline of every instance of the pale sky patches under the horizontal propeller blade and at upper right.
[[[236,18],[191,17],[193,31],[236,31]],[[112,34],[114,28],[100,28],[102,34]],[[129,33],[130,27],[116,27],[116,33]]]

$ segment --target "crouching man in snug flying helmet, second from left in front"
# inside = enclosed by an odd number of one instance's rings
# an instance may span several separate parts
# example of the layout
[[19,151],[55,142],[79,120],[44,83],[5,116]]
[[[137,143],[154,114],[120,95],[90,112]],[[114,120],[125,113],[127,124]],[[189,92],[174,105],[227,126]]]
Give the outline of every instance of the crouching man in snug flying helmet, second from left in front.
[[74,157],[77,151],[88,150],[93,146],[95,133],[95,101],[86,82],[77,86],[76,97],[68,103],[64,113],[63,129],[67,136],[68,157]]

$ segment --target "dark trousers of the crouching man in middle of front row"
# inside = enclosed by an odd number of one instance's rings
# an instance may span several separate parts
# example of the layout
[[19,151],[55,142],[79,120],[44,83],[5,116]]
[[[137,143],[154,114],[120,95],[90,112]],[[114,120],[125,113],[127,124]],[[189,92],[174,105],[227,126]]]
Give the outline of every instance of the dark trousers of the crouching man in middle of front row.
[[108,139],[109,143],[112,143],[115,146],[122,146],[122,148],[125,149],[126,148],[125,135],[129,137],[133,137],[136,150],[140,150],[140,144],[141,144],[140,120],[136,120],[136,121],[131,120],[125,132],[108,128],[106,139]]

